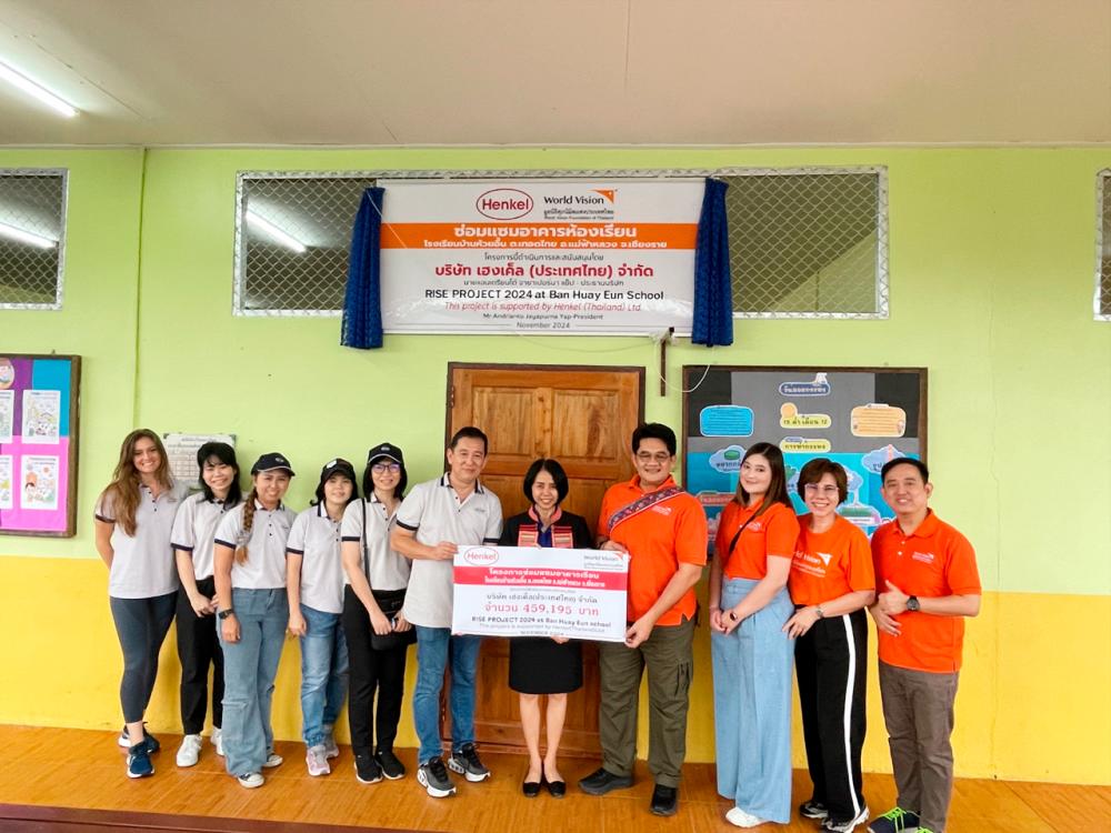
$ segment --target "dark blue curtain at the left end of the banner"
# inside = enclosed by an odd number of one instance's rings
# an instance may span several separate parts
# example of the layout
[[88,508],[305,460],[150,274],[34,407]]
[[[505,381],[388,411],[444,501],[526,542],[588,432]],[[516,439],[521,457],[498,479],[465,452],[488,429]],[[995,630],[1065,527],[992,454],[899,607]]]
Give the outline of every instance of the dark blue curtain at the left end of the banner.
[[340,343],[359,350],[382,347],[382,292],[379,280],[383,188],[368,188],[351,232],[351,263],[343,298]]

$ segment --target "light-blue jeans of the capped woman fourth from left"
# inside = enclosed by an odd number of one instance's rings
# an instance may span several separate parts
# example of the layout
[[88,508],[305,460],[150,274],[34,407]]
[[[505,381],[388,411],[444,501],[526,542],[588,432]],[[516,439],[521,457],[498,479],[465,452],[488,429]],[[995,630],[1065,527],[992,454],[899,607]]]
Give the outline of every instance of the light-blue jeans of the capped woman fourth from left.
[[347,696],[347,640],[339,613],[301,605],[301,736],[306,746],[324,742],[324,726],[339,717]]

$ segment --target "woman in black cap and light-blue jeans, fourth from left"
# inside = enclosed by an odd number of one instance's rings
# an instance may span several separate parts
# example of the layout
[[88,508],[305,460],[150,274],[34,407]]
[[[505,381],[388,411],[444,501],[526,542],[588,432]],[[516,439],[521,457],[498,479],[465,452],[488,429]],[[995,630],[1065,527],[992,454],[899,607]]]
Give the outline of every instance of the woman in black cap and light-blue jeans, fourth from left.
[[301,638],[301,736],[310,775],[330,773],[328,759],[340,753],[332,733],[348,674],[347,642],[340,630],[340,521],[358,496],[351,463],[341,458],[324,463],[317,499],[293,521],[286,544],[289,632]]

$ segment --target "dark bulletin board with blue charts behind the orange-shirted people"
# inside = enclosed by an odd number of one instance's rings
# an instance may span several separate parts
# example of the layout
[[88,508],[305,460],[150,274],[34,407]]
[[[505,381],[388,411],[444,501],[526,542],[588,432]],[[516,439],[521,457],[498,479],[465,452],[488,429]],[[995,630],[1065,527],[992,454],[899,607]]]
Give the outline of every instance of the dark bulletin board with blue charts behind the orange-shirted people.
[[683,482],[705,509],[710,541],[737,491],[741,458],[777,444],[795,511],[807,461],[840,463],[849,498],[840,513],[867,534],[894,513],[880,494],[880,469],[900,456],[925,459],[924,368],[684,367]]

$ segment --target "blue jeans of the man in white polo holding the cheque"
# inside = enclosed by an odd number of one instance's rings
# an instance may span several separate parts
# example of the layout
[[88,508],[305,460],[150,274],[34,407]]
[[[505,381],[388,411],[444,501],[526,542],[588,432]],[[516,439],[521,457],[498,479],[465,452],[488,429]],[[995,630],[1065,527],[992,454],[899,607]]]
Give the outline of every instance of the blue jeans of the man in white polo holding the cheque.
[[413,723],[420,739],[418,763],[442,754],[440,741],[440,691],[443,672],[451,662],[451,749],[474,742],[474,672],[481,636],[452,636],[448,628],[417,625],[417,689]]

